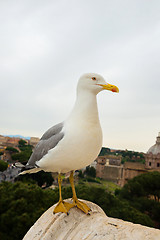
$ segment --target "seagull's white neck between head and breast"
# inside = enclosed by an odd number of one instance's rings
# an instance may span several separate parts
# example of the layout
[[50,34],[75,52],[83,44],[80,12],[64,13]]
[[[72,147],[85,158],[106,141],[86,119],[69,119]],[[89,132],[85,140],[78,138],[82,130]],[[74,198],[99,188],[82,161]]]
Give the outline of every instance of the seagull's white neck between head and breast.
[[77,92],[75,106],[69,119],[84,123],[99,124],[96,95],[88,91]]

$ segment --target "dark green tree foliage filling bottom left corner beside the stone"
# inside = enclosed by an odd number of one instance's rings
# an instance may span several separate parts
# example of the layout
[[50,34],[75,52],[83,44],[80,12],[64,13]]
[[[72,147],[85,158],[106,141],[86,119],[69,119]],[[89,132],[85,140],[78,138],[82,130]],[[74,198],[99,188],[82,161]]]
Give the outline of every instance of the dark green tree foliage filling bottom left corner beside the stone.
[[0,239],[21,240],[34,222],[58,201],[58,191],[35,184],[0,184]]

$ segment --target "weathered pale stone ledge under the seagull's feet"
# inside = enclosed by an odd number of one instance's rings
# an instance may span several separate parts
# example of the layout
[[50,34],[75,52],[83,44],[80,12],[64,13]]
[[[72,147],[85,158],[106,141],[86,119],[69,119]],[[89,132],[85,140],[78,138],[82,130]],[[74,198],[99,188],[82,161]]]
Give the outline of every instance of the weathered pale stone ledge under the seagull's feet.
[[84,202],[92,209],[90,215],[84,214],[76,207],[70,209],[68,216],[65,213],[53,215],[54,205],[37,220],[23,240],[160,239],[158,229],[109,218],[96,204]]

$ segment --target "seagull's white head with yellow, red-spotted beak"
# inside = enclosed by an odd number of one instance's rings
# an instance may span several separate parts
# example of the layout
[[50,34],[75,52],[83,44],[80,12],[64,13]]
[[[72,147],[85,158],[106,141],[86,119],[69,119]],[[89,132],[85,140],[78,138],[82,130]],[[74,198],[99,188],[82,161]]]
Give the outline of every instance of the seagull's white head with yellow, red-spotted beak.
[[97,73],[85,73],[79,79],[77,90],[90,91],[98,94],[102,90],[109,90],[112,92],[119,92],[118,87],[107,83],[104,78]]

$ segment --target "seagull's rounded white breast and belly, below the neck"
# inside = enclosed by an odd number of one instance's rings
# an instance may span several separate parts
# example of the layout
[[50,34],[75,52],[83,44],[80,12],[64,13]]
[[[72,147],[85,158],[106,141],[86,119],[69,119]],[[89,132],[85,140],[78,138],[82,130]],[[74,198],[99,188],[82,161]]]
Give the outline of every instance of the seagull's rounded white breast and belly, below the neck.
[[102,130],[98,123],[67,122],[64,138],[39,161],[39,166],[53,172],[84,168],[98,156],[102,147]]

